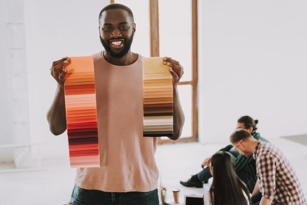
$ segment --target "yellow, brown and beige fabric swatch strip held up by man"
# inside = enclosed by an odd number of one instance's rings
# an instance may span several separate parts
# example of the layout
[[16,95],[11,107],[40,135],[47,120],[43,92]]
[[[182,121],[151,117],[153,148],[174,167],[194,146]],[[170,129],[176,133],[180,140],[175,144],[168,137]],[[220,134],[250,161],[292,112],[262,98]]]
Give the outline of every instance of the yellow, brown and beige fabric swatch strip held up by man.
[[173,83],[162,57],[143,58],[143,136],[173,136]]

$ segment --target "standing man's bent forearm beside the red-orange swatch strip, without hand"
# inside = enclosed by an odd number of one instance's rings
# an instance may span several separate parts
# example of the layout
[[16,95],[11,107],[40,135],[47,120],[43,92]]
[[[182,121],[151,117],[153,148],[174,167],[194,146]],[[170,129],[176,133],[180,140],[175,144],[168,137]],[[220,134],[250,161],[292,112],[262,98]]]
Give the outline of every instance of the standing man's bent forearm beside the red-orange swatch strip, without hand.
[[57,88],[54,100],[47,113],[49,128],[54,135],[62,134],[66,130],[64,89]]

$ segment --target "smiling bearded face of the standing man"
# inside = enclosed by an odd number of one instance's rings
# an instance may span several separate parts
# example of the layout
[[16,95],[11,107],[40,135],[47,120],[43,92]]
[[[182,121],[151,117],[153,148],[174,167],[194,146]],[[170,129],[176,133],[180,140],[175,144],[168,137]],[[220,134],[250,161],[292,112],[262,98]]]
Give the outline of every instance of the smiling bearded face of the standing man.
[[109,9],[102,13],[100,41],[112,57],[123,57],[130,50],[135,24],[123,9]]

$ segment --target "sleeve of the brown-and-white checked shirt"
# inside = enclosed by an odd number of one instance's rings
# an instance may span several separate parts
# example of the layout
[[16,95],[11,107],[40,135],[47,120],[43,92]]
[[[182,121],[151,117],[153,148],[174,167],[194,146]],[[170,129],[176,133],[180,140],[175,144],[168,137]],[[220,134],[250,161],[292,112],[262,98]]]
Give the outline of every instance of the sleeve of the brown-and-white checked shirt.
[[274,199],[276,193],[276,159],[270,154],[264,154],[257,159],[259,188],[262,196]]

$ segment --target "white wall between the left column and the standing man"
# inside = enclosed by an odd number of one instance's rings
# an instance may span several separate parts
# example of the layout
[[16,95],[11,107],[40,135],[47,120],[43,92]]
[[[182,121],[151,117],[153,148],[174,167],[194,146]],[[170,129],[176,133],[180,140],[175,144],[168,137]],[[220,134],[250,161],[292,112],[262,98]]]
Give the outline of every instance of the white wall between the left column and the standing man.
[[91,55],[102,50],[98,16],[110,1],[24,2],[31,142],[46,144],[40,150],[44,158],[67,156],[66,132],[53,136],[46,120],[56,89],[49,70],[52,61],[64,56]]

